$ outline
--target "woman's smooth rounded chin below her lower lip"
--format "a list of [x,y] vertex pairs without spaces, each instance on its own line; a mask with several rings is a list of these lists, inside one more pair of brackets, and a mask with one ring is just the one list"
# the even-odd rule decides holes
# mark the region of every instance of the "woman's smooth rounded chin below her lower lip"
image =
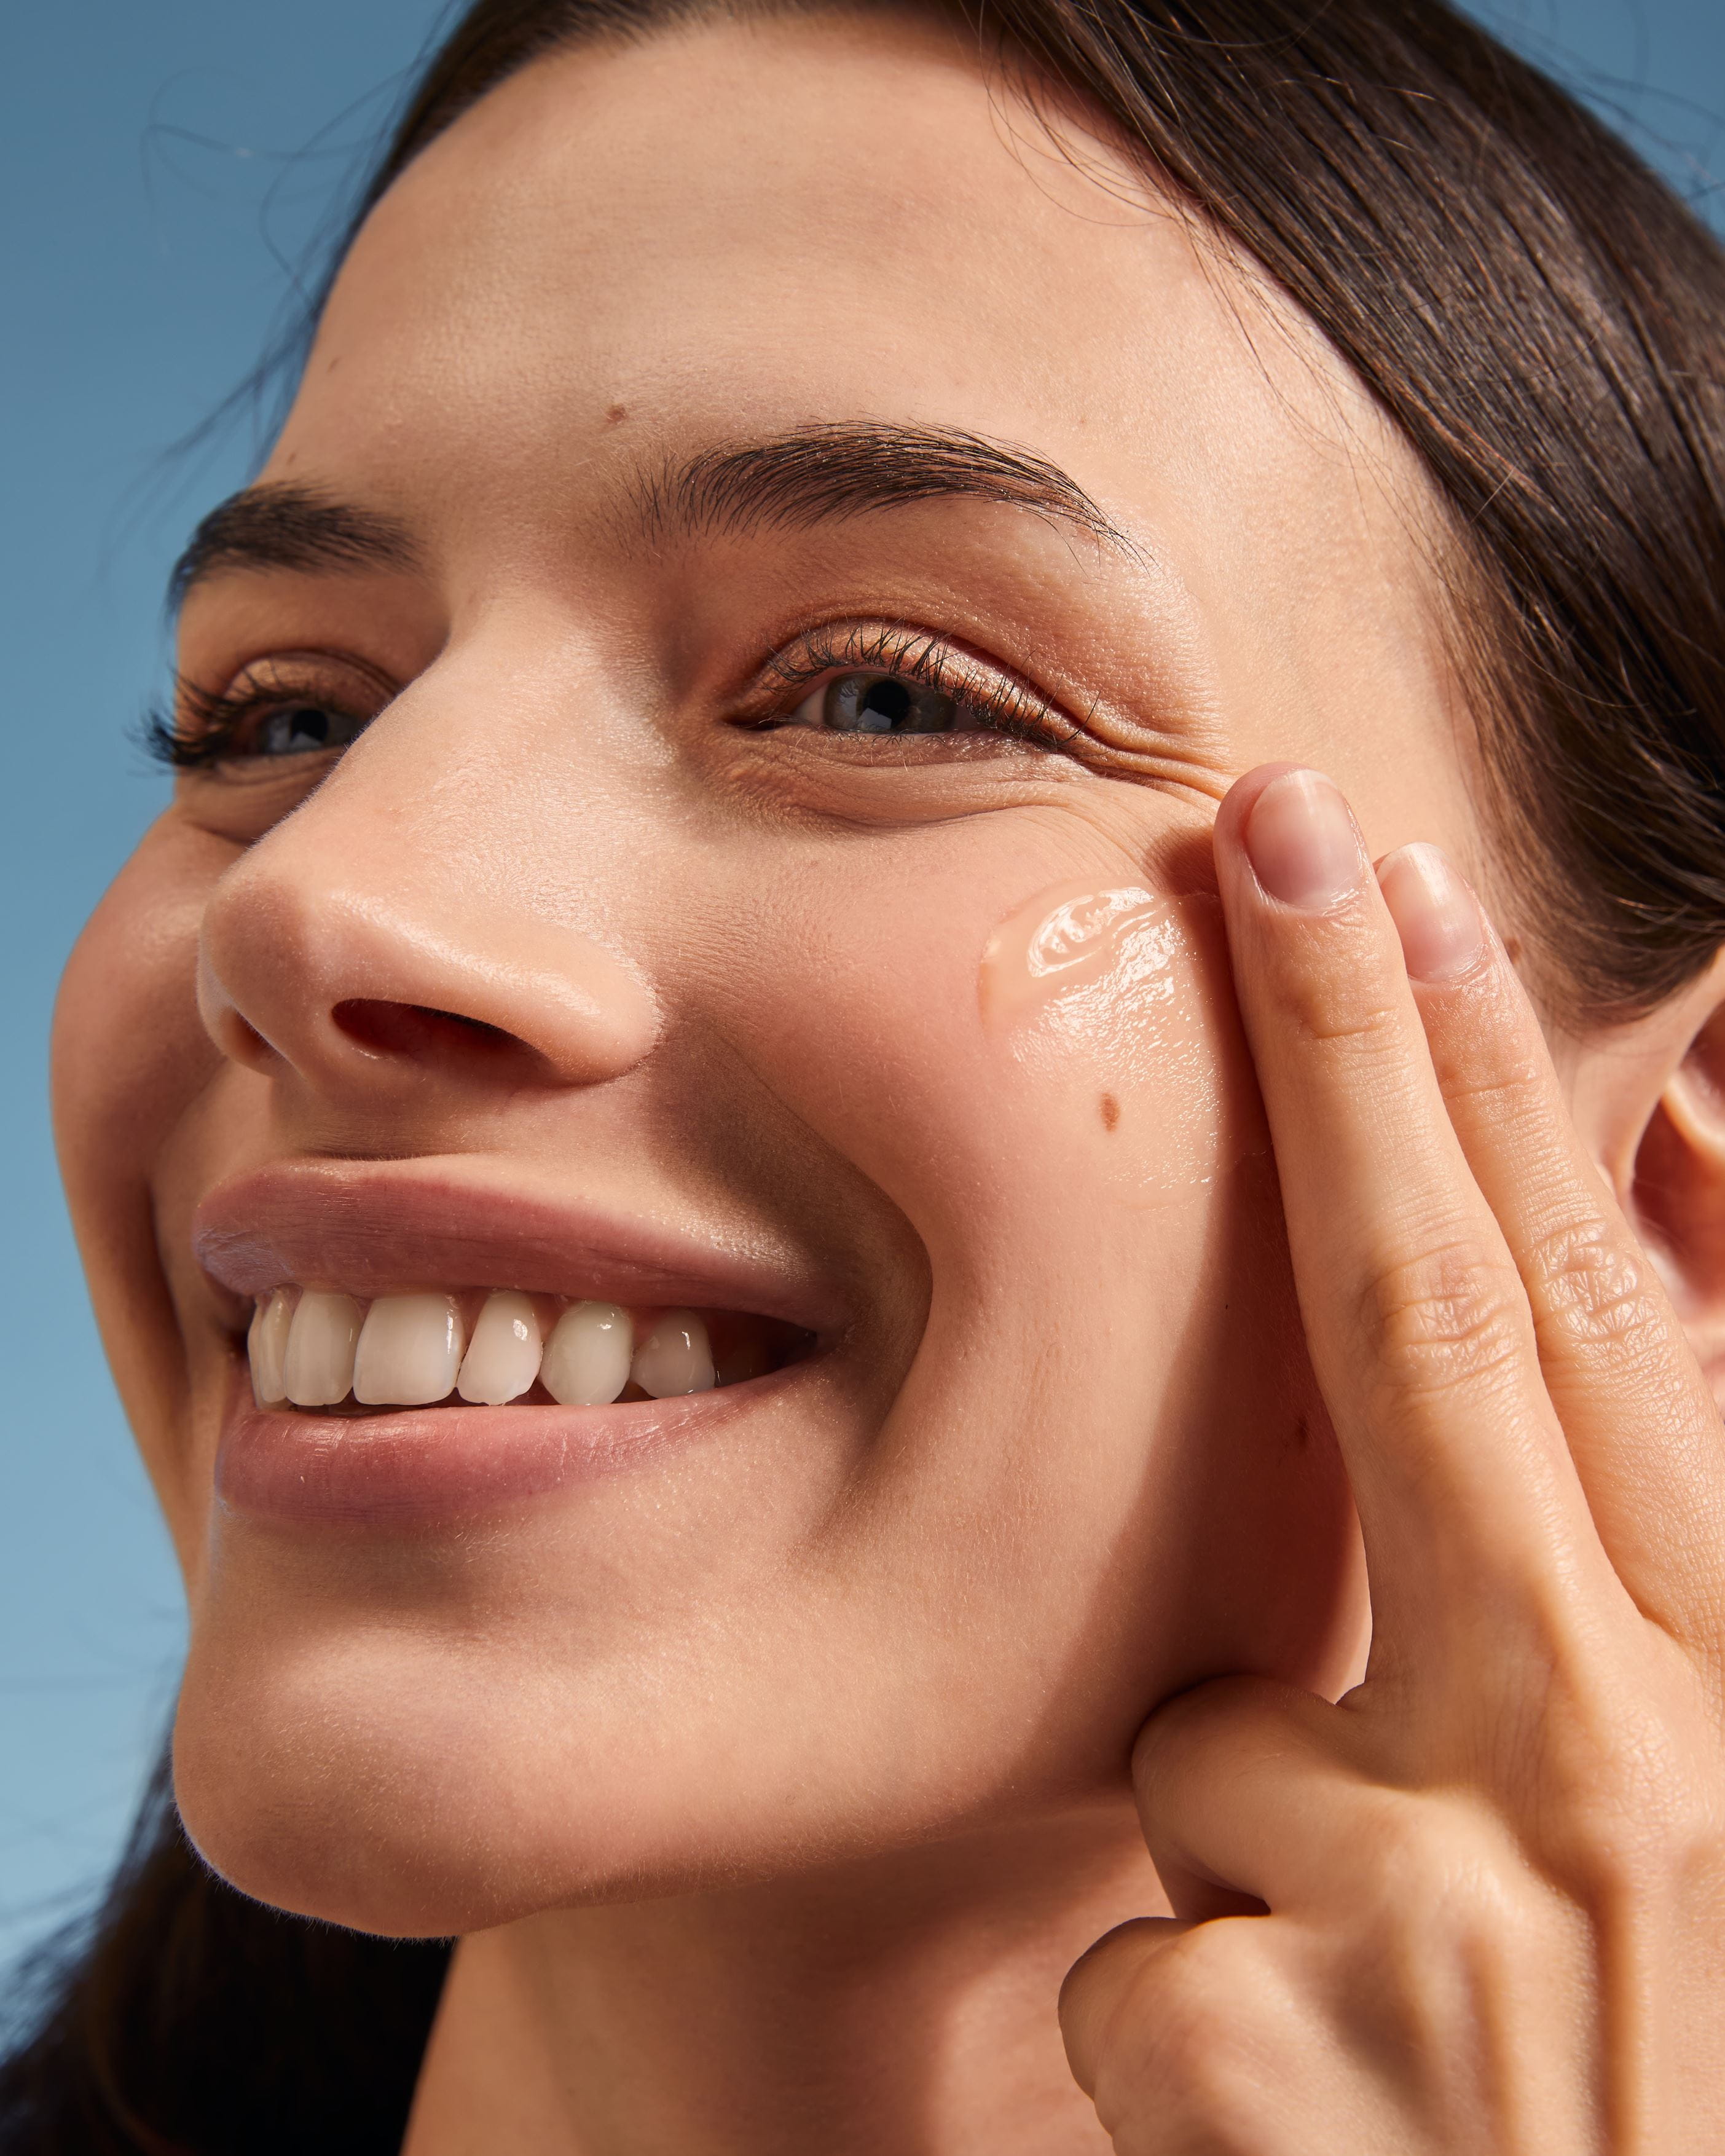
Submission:
[[806,1744],[785,1751],[759,1692],[753,1714],[748,1697],[714,1708],[722,1680],[703,1680],[705,1697],[619,1714],[606,1690],[567,1671],[541,1688],[533,1658],[498,1667],[442,1628],[265,1651],[194,1630],[175,1725],[181,1820],[252,1899],[392,1938],[735,1887],[949,1824],[893,1807],[856,1761],[837,1761],[826,1807],[819,1792],[806,1802]]

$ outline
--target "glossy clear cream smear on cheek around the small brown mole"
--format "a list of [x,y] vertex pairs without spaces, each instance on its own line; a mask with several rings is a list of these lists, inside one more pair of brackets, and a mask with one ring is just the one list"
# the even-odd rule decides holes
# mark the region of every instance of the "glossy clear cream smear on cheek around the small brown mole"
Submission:
[[988,940],[977,994],[1126,1203],[1192,1197],[1268,1151],[1220,901],[1054,884]]

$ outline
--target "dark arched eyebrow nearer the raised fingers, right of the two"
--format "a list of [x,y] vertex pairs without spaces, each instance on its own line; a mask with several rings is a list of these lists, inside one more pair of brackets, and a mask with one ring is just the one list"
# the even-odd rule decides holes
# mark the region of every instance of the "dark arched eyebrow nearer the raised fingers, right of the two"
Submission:
[[634,489],[649,537],[802,530],[951,498],[1029,509],[1132,558],[1138,552],[1059,464],[957,427],[796,427],[765,442],[705,448]]

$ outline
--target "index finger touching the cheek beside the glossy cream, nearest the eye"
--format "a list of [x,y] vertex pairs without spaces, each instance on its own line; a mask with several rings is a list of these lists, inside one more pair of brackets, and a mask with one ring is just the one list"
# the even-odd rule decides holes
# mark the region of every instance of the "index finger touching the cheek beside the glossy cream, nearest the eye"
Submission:
[[1374,1647],[1475,1654],[1507,1602],[1609,1572],[1505,1238],[1438,1091],[1395,925],[1337,789],[1242,778],[1216,873],[1307,1345],[1371,1576]]

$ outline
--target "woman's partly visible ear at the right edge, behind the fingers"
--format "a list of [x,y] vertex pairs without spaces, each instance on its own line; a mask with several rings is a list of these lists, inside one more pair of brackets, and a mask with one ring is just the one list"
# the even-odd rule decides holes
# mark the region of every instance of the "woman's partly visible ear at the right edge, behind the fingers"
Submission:
[[1570,1102],[1725,1406],[1725,951],[1650,1018],[1578,1044]]

